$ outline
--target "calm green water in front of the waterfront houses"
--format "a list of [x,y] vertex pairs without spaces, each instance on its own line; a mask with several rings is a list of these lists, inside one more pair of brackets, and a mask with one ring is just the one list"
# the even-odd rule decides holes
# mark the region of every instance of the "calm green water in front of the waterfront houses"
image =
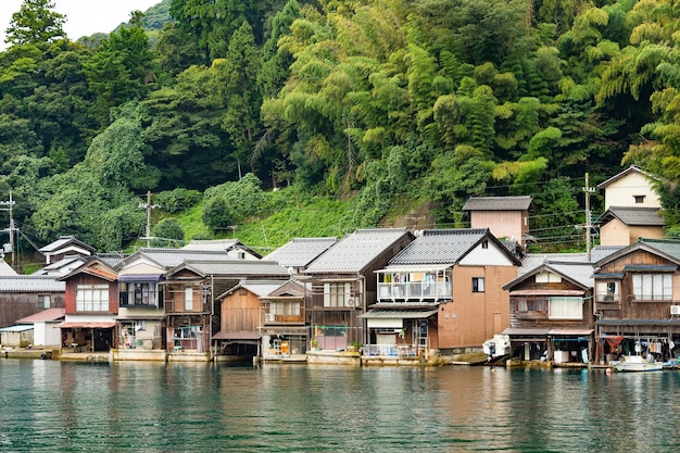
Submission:
[[680,373],[0,360],[0,451],[665,452]]

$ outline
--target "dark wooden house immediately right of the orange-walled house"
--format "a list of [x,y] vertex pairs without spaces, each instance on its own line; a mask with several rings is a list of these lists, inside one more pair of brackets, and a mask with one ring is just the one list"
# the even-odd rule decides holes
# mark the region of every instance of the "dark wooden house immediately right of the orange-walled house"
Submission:
[[590,363],[594,355],[592,264],[543,261],[503,286],[509,292],[511,356]]

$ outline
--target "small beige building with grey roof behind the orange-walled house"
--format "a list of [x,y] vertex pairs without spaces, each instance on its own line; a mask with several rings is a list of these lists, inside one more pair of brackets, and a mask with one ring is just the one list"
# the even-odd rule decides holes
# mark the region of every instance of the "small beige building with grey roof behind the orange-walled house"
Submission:
[[531,197],[470,197],[463,211],[469,212],[470,228],[489,228],[496,238],[527,246]]

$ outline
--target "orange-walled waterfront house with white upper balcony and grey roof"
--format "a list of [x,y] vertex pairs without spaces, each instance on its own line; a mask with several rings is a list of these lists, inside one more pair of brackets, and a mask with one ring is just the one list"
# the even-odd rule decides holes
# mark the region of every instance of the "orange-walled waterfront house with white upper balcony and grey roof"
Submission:
[[368,354],[478,350],[509,323],[503,282],[519,260],[488,228],[423,230],[377,270]]

